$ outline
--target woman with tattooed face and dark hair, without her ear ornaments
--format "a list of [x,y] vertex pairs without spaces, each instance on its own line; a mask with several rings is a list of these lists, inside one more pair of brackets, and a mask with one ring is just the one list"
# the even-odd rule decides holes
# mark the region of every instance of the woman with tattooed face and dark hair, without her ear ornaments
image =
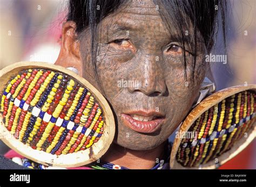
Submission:
[[213,81],[205,56],[224,12],[218,0],[70,0],[55,64],[76,68],[95,86],[116,122],[110,149],[86,167],[169,168],[168,138],[204,78]]

